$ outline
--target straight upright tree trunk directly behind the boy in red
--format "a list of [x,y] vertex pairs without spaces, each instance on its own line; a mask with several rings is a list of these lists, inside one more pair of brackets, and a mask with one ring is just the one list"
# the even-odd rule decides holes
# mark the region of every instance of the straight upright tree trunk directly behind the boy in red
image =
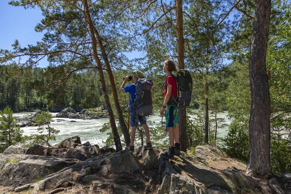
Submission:
[[[178,69],[184,69],[183,0],[177,0],[177,52]],[[186,109],[178,109],[181,151],[187,150]]]

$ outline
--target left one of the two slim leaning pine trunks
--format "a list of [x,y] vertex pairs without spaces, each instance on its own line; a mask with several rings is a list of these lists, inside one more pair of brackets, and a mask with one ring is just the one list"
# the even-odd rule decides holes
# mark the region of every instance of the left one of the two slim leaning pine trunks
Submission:
[[122,150],[122,146],[121,146],[120,137],[119,137],[119,134],[118,134],[118,131],[116,128],[114,114],[113,114],[111,104],[109,101],[109,97],[107,94],[106,83],[105,83],[104,74],[103,74],[103,70],[102,70],[102,64],[101,64],[101,61],[97,55],[97,41],[96,41],[96,37],[95,37],[95,33],[94,33],[94,25],[93,25],[93,22],[92,22],[92,19],[90,16],[89,6],[88,6],[87,0],[83,0],[83,3],[84,3],[85,16],[86,16],[87,22],[89,24],[90,32],[91,32],[93,55],[94,55],[94,59],[97,63],[97,70],[98,70],[99,79],[101,82],[102,94],[103,94],[105,104],[107,107],[107,111],[109,114],[109,120],[110,120],[110,125],[111,125],[111,129],[112,129],[112,133],[113,133],[113,139],[114,139],[114,144],[116,147],[116,152],[118,152],[118,151]]

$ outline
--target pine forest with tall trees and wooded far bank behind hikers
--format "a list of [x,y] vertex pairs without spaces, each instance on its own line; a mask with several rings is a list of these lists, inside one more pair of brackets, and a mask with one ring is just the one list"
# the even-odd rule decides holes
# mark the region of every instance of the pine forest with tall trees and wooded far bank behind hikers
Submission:
[[[22,47],[15,37],[13,49],[0,48],[0,110],[9,106],[13,112],[58,112],[103,106],[118,151],[120,136],[129,144],[128,95],[116,88],[130,71],[140,69],[154,83],[153,105],[159,113],[163,62],[172,59],[193,78],[191,105],[179,110],[183,151],[217,145],[247,162],[247,173],[254,176],[291,172],[290,0],[9,4],[40,9],[44,18],[35,31],[44,35],[36,45]],[[140,56],[129,59],[134,51]],[[38,67],[45,57],[49,66]],[[232,122],[227,136],[218,139],[216,115],[224,111]],[[190,113],[198,119],[191,121]],[[162,130],[156,128],[154,138],[166,136]],[[286,131],[289,136],[283,136]]]

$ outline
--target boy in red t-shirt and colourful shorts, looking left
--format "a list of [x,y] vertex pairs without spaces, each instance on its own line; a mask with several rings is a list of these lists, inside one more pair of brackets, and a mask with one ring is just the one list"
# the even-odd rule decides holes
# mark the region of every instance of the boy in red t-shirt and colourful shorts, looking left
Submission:
[[[172,71],[177,71],[173,60],[166,60],[163,65],[163,71],[167,78],[164,84],[164,100],[161,109],[161,115],[166,113],[166,128],[169,132],[169,150],[161,154],[164,159],[174,159],[174,155],[180,155],[180,133],[178,121],[178,109],[173,97],[177,97],[177,81]],[[175,141],[175,144],[174,144]]]

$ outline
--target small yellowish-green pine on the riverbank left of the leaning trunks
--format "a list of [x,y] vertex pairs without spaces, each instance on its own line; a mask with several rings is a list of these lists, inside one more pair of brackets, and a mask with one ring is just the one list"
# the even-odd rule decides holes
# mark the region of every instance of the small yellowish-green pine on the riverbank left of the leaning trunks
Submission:
[[[32,144],[50,146],[49,141],[55,140],[56,135],[60,132],[60,130],[49,127],[50,121],[51,121],[50,113],[41,112],[35,116],[34,122],[36,122],[39,125],[39,128],[37,129],[38,134],[32,134],[31,136],[26,137],[28,143],[27,146],[31,146]],[[43,134],[45,129],[47,130],[48,133]]]

